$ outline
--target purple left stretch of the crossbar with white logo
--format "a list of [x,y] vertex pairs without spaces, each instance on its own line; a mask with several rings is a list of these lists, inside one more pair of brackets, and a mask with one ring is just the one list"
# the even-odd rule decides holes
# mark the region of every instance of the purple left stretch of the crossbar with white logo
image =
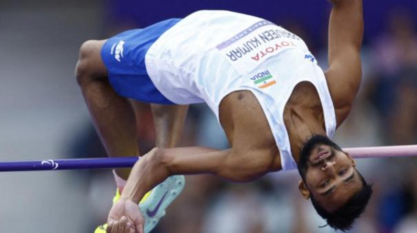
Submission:
[[105,157],[92,159],[48,159],[38,161],[0,162],[0,172],[23,170],[70,170],[92,168],[130,168],[139,157]]

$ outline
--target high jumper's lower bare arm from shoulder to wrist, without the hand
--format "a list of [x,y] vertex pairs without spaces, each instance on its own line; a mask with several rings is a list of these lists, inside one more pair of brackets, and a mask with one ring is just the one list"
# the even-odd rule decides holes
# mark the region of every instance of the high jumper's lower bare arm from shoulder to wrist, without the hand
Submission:
[[274,170],[275,162],[276,157],[267,150],[154,148],[132,168],[121,199],[139,203],[146,192],[171,175],[209,173],[230,181],[252,181]]

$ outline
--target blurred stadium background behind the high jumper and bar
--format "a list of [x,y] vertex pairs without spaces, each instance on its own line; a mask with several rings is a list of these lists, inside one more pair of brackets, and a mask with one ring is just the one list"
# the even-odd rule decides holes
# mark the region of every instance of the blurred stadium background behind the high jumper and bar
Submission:
[[[145,27],[195,10],[261,16],[301,36],[327,64],[325,0],[0,0],[1,160],[103,157],[74,78],[85,40]],[[336,133],[341,146],[417,144],[417,2],[365,1],[363,82]],[[141,151],[154,144],[152,116],[141,120]],[[225,148],[204,104],[190,108],[181,146]],[[417,232],[417,157],[362,159],[374,183],[367,212],[349,232]],[[250,184],[187,177],[183,194],[154,233],[332,232],[298,195],[298,174]],[[115,191],[110,170],[1,173],[0,232],[88,233],[104,223]]]

